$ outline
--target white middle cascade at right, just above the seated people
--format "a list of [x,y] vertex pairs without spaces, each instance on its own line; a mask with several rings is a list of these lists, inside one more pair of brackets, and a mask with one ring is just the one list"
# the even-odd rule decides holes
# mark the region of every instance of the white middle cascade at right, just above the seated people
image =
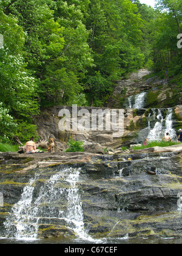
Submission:
[[168,108],[166,118],[164,119],[161,109],[158,109],[157,122],[155,123],[153,129],[150,128],[150,122],[148,124],[150,132],[147,136],[147,139],[149,141],[160,141],[166,135],[167,132],[169,132],[169,136],[170,138],[172,138],[172,140],[177,139],[175,129],[173,129],[172,127],[172,113],[172,108]]

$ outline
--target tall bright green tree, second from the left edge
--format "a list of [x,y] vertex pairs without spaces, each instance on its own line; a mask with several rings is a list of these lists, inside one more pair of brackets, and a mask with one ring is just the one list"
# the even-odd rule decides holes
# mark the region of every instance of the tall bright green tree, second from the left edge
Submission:
[[[56,103],[61,97],[56,77],[52,78],[55,65],[63,62],[61,57],[64,47],[62,27],[54,19],[54,1],[17,0],[8,9],[18,17],[19,24],[25,31],[25,61],[27,68],[38,79],[38,95],[41,105],[46,101]],[[55,63],[56,62],[56,63]],[[51,68],[52,67],[52,68]],[[60,73],[60,72],[59,72]]]

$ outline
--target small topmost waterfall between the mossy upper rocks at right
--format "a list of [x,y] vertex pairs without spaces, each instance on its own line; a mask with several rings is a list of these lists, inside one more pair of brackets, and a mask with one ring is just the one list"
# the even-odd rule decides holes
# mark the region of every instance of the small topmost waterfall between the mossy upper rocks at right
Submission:
[[144,108],[144,101],[146,99],[146,92],[131,95],[127,98],[126,108]]

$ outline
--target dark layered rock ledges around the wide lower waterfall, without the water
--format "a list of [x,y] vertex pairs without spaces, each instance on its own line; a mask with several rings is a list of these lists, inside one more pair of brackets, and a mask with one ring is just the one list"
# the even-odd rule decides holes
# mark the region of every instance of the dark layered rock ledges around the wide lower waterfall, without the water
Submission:
[[[10,152],[1,154],[4,158],[0,163],[0,191],[4,195],[4,207],[0,207],[0,235],[5,235],[3,223],[8,212],[35,174],[39,176],[34,183],[34,201],[53,174],[65,168],[79,168],[76,188],[84,227],[91,237],[181,237],[177,201],[178,193],[182,192],[182,152],[178,145],[166,151],[153,148],[152,152],[113,155],[69,152],[37,154],[31,158],[21,154],[10,157]],[[59,186],[62,185],[58,180],[54,188]],[[42,207],[46,209],[44,204],[42,198]],[[66,204],[66,199],[61,202],[64,208]],[[57,208],[59,205],[55,214]],[[76,236],[64,219],[56,215],[50,219],[39,217],[39,238]]]

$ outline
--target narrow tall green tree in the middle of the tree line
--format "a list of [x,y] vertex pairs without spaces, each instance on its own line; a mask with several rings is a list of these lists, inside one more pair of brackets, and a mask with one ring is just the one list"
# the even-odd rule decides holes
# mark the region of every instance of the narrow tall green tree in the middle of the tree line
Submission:
[[[61,82],[62,102],[72,104],[83,94],[83,80],[87,69],[92,67],[93,59],[87,43],[89,32],[84,25],[86,6],[89,1],[56,1],[55,12],[58,23],[64,27],[64,48],[61,53],[63,71]],[[85,101],[84,101],[85,102]],[[84,103],[83,102],[83,103]]]

